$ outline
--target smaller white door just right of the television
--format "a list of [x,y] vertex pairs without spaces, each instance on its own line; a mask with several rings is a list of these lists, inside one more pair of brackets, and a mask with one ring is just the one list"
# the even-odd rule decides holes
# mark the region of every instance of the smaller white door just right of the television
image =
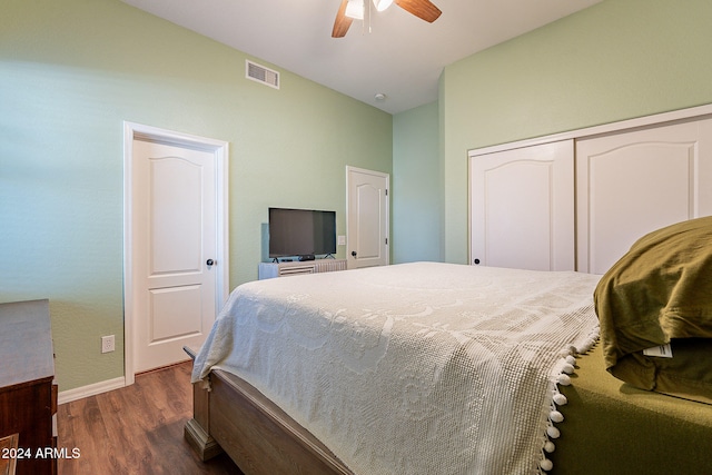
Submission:
[[387,266],[388,174],[346,167],[346,263],[349,269]]

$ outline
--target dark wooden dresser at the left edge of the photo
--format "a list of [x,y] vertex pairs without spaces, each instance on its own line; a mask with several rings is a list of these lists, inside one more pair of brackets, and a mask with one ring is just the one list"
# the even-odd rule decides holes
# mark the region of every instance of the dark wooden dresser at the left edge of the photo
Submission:
[[57,473],[53,379],[49,300],[0,304],[0,473]]

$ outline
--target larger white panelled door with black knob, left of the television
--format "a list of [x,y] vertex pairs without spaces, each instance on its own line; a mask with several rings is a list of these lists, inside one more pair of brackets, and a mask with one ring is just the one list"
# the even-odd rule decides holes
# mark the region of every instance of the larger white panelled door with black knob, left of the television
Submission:
[[138,135],[130,150],[127,376],[184,360],[184,345],[202,344],[227,267],[222,146]]

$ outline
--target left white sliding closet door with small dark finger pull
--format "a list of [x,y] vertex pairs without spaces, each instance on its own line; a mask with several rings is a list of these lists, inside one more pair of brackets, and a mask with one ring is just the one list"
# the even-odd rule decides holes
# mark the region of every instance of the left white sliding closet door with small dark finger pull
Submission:
[[471,264],[574,269],[573,140],[471,157]]

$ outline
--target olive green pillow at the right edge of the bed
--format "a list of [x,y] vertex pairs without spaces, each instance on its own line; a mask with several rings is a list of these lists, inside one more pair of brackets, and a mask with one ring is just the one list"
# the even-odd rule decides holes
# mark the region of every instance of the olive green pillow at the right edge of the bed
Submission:
[[[601,278],[594,301],[613,376],[712,403],[712,217],[639,239]],[[643,354],[668,344],[672,358]]]

